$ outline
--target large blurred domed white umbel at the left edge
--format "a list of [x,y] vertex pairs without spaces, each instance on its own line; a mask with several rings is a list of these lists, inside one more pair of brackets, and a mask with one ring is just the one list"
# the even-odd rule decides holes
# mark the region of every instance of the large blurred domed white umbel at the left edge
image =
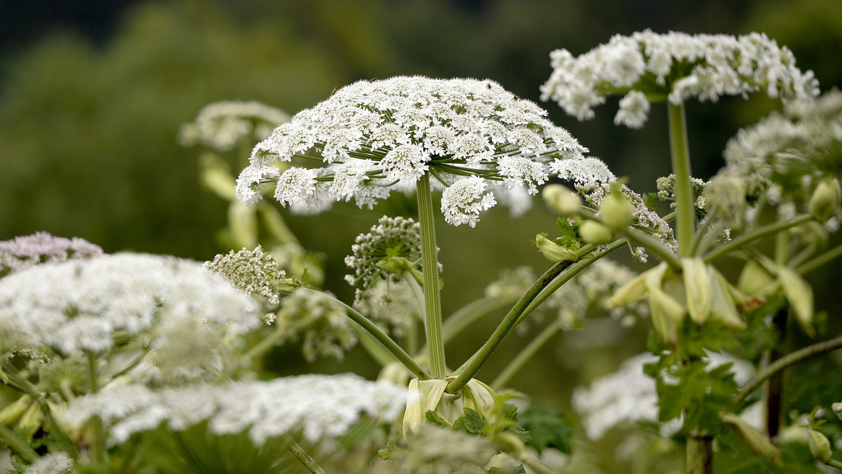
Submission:
[[[66,355],[103,354],[120,333],[141,338],[156,365],[193,371],[216,363],[222,338],[261,321],[257,305],[221,275],[174,257],[119,253],[0,280],[0,341],[7,350],[44,345]],[[166,357],[189,347],[196,350],[187,358]]]

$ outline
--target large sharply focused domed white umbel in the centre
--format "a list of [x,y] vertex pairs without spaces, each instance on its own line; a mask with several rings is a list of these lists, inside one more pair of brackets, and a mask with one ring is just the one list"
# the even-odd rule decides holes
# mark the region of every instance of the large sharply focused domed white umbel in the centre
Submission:
[[[283,205],[322,210],[352,198],[373,206],[392,189],[412,189],[429,174],[453,187],[442,200],[446,221],[475,223],[507,194],[536,194],[552,163],[582,159],[587,149],[546,111],[498,83],[475,79],[392,77],[338,89],[254,147],[237,178],[237,198],[261,199],[275,183]],[[274,162],[310,158],[321,167],[280,172]]]

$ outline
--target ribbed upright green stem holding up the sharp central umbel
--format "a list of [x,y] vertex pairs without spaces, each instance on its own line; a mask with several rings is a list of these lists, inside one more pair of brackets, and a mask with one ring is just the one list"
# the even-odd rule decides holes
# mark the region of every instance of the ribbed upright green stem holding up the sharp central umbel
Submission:
[[433,194],[429,188],[429,174],[424,173],[416,184],[418,194],[418,224],[421,226],[421,270],[424,272],[424,333],[430,373],[445,378],[445,340],[441,333],[441,296],[439,290],[439,248],[435,245]]

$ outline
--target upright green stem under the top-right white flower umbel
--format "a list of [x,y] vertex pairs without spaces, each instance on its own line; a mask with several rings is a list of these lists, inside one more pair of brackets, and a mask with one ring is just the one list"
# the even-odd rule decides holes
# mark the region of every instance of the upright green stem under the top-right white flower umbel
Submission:
[[693,184],[690,181],[687,120],[684,103],[672,104],[668,101],[667,104],[669,107],[669,152],[675,175],[675,210],[678,212],[676,235],[679,242],[679,255],[688,257],[695,228],[695,200],[693,199]]

